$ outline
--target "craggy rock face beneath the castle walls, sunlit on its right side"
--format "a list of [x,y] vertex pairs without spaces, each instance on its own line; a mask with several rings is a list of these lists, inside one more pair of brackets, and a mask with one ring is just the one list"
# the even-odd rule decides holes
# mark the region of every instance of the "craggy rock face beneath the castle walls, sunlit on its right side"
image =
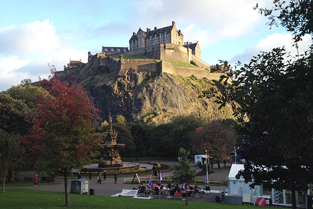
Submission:
[[233,118],[230,105],[218,109],[213,99],[198,98],[202,90],[212,86],[205,78],[135,72],[132,68],[125,77],[109,72],[105,66],[87,63],[82,68],[60,73],[60,79],[81,83],[94,98],[103,120],[108,120],[109,112],[113,118],[123,115],[128,121],[143,119],[156,124],[166,123],[180,114]]

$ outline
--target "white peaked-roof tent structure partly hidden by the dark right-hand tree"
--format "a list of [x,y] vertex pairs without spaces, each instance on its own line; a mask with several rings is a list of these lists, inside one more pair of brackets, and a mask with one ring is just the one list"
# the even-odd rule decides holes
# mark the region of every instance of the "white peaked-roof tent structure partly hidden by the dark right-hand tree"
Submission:
[[244,203],[255,203],[256,199],[263,196],[263,186],[257,185],[254,189],[249,187],[252,182],[245,183],[243,178],[236,179],[236,175],[240,170],[244,169],[242,164],[232,164],[228,174],[228,195],[240,196]]

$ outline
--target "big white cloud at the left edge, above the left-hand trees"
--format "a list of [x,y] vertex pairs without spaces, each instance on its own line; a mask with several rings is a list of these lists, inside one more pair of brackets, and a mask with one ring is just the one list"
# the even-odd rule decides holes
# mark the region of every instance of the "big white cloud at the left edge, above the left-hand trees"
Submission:
[[69,46],[49,20],[0,28],[0,91],[25,78],[47,78],[47,63],[60,71],[70,58],[87,62],[87,51]]

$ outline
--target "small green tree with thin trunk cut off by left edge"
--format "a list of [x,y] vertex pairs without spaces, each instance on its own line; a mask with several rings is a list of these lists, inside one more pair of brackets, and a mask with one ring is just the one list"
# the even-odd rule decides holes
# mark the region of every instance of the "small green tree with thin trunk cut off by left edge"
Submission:
[[0,178],[2,180],[2,192],[5,191],[6,175],[10,167],[17,164],[20,159],[21,148],[15,135],[9,135],[0,129]]

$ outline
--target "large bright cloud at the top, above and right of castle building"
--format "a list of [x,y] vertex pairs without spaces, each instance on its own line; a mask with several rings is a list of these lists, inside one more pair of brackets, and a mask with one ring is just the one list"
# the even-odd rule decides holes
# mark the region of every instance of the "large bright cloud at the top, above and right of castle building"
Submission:
[[[258,1],[261,7],[270,2]],[[141,0],[130,10],[141,9],[134,15],[142,28],[163,27],[171,24],[168,20],[174,20],[185,41],[199,41],[205,46],[217,40],[241,37],[264,25],[265,18],[253,9],[255,5],[256,1],[252,0]]]

